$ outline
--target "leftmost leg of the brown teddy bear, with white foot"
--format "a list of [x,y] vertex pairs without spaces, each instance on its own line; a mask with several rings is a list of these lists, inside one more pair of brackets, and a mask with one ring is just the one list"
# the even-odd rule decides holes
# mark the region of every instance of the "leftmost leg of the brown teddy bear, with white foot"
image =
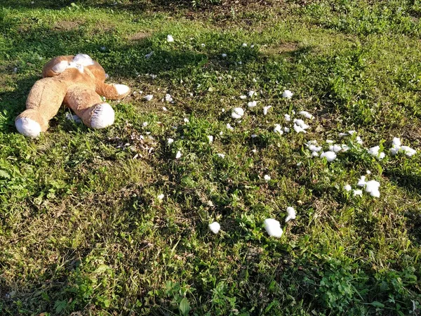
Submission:
[[24,136],[36,138],[48,129],[48,121],[57,114],[65,98],[66,88],[53,78],[36,81],[27,98],[27,110],[15,119],[15,126]]

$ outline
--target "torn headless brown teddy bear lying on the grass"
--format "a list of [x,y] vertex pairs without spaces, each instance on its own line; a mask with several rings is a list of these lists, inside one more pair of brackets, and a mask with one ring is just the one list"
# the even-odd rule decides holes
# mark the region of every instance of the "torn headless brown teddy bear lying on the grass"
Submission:
[[18,132],[31,138],[48,129],[48,121],[62,103],[86,126],[104,129],[114,123],[114,110],[100,96],[119,100],[130,92],[124,84],[105,84],[105,70],[86,54],[53,58],[44,66],[42,77],[29,91],[26,110],[15,119]]

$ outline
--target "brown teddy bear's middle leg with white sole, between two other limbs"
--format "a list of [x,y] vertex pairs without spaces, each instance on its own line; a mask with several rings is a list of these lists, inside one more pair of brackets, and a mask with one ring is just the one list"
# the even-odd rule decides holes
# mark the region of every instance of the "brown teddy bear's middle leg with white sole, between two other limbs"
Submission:
[[65,103],[88,127],[105,129],[114,123],[114,110],[111,105],[103,102],[93,89],[72,87],[67,91]]

